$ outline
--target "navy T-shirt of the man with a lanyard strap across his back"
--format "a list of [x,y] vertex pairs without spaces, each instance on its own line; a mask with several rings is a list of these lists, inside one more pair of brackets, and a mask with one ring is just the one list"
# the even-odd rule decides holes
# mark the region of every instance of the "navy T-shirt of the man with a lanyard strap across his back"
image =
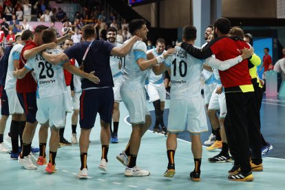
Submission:
[[[83,56],[87,50],[89,41],[82,43],[76,43],[72,47],[64,51],[69,59],[76,59],[81,66]],[[82,89],[89,89],[94,87],[113,87],[113,77],[110,67],[110,54],[115,46],[108,41],[97,41],[92,43],[92,46],[87,53],[85,61],[83,63],[84,72],[95,71],[95,75],[100,79],[99,84],[92,83],[88,79],[84,78],[81,81]]]

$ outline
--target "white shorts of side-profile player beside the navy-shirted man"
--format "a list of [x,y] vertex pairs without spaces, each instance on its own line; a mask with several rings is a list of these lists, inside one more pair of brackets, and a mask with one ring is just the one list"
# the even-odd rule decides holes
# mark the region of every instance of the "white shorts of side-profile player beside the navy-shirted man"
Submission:
[[129,119],[131,124],[144,124],[145,116],[150,115],[145,105],[145,88],[135,89],[131,91],[120,91],[127,111],[129,111]]

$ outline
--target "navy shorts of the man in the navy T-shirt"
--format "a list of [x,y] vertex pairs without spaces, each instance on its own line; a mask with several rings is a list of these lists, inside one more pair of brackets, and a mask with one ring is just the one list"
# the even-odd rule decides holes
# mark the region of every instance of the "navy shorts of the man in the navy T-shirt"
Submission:
[[80,97],[80,126],[83,129],[94,127],[97,112],[105,123],[112,122],[114,92],[112,87],[83,90]]

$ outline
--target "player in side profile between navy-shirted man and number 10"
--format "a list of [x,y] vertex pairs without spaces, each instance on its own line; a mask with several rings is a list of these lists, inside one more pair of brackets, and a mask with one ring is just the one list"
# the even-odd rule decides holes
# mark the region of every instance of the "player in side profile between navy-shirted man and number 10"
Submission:
[[[147,39],[147,32],[149,32],[142,19],[131,21],[129,31],[132,35],[140,36],[143,41]],[[143,41],[134,43],[122,64],[123,84],[120,87],[120,96],[127,107],[132,126],[129,143],[125,151],[117,156],[117,159],[126,165],[125,176],[149,176],[149,171],[136,166],[140,140],[151,125],[151,116],[145,105],[145,78],[150,67],[161,63],[165,57],[169,56],[165,53],[156,59],[147,60],[147,45]]]

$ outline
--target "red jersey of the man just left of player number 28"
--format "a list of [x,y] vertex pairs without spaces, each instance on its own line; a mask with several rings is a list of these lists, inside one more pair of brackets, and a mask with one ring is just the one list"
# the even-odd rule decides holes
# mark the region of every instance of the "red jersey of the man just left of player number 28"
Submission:
[[[23,50],[20,55],[20,60],[19,60],[19,67],[20,70],[25,66],[25,63],[27,63],[27,60],[23,57],[23,52],[25,50],[31,50],[34,47],[37,47],[36,43],[33,41],[27,41],[25,43],[25,46],[23,47]],[[16,83],[16,90],[17,93],[27,93],[27,92],[36,92],[36,81],[34,81],[34,77],[32,76],[31,72],[28,72],[24,78],[22,79],[17,79]]]

